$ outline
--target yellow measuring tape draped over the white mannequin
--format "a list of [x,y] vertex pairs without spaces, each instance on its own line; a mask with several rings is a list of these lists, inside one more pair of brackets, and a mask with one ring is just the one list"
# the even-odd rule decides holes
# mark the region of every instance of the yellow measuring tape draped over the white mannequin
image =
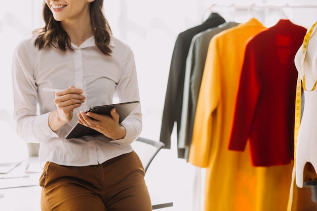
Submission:
[[[302,71],[304,71],[304,60],[307,53],[308,43],[310,36],[312,34],[313,28],[317,25],[317,22],[314,23],[309,31],[304,36],[303,40],[303,49],[302,49],[302,56],[301,56],[301,68]],[[310,91],[313,91],[316,88],[317,80],[315,81],[315,84],[313,88]],[[302,97],[302,88],[306,90],[306,81],[305,81],[305,74],[303,74],[303,85],[302,80],[300,78],[300,75],[297,76],[297,85],[296,85],[296,97],[295,97],[295,124],[294,124],[294,165],[293,165],[293,172],[292,172],[292,183],[290,188],[290,195],[289,195],[289,201],[287,204],[287,211],[292,210],[293,205],[293,199],[294,199],[294,187],[296,186],[295,183],[295,158],[296,158],[296,145],[297,145],[297,137],[299,132],[299,126],[300,126],[300,118],[301,118],[301,97]]]

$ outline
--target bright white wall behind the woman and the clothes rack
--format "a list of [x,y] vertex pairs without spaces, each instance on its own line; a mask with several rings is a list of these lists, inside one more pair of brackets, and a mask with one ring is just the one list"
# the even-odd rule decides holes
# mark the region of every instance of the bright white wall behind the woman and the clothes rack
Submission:
[[[261,3],[283,6],[287,3],[315,4],[315,0],[244,0],[239,4],[224,0],[105,1],[104,10],[114,35],[126,40],[135,53],[144,113],[144,137],[159,138],[170,60],[178,33],[202,23],[211,11],[220,13],[227,21],[236,22],[247,21],[254,15],[268,27],[283,18],[279,9],[250,7],[234,10],[234,6]],[[215,6],[210,11],[212,5]],[[286,8],[284,12],[294,23],[310,27],[316,20],[316,10]],[[0,109],[12,112],[11,54],[18,40],[42,26],[41,12],[42,1],[38,0],[21,1],[18,6],[16,1],[5,1],[0,8],[0,88],[5,90]]]

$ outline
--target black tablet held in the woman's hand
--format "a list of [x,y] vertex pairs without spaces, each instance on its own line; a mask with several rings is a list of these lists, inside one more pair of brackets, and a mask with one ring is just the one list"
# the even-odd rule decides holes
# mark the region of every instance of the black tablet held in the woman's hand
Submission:
[[[110,110],[115,108],[116,112],[120,115],[119,123],[121,123],[139,104],[139,101],[132,101],[111,105],[94,106],[89,108],[86,113],[94,112],[98,114],[110,115]],[[98,134],[100,134],[98,131],[88,128],[83,124],[77,123],[68,132],[68,134],[65,136],[65,139],[79,138],[82,136],[94,136]]]

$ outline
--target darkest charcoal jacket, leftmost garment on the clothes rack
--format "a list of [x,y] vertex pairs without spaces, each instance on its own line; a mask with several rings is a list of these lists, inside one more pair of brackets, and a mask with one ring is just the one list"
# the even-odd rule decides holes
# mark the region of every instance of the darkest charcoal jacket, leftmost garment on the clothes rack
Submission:
[[[209,28],[216,27],[224,22],[224,18],[222,18],[218,13],[212,13],[201,25],[189,28],[177,36],[171,60],[162,117],[160,141],[165,144],[164,148],[171,148],[171,134],[174,128],[174,122],[177,122],[177,134],[179,133],[183,102],[185,65],[191,40],[195,34]],[[179,149],[178,157],[184,157],[184,149]]]

